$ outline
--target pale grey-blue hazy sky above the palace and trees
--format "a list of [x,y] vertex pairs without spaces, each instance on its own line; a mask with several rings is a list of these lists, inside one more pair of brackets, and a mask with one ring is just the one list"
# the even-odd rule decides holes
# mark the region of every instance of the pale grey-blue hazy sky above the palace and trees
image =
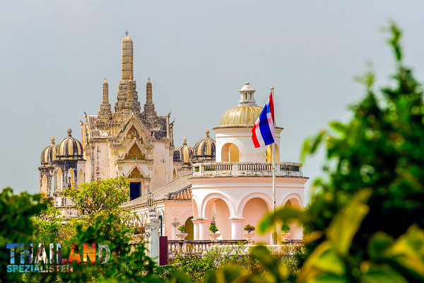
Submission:
[[[4,1],[0,10],[0,187],[39,192],[40,154],[96,115],[102,81],[116,101],[125,30],[134,40],[134,80],[143,105],[148,76],[158,115],[172,111],[175,145],[189,145],[237,106],[245,81],[263,106],[271,86],[281,161],[331,120],[347,121],[363,97],[353,80],[367,62],[378,86],[394,60],[382,33],[402,30],[406,64],[424,76],[423,1]],[[211,132],[211,136],[214,134]],[[304,175],[322,174],[323,151]],[[311,181],[307,183],[310,197]]]

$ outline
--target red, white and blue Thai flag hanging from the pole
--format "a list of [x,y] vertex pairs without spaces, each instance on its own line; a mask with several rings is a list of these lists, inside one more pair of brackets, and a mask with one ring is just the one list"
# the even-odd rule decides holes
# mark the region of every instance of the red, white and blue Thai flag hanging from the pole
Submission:
[[273,100],[272,93],[269,95],[268,101],[264,106],[257,122],[254,123],[252,128],[252,140],[254,147],[267,146],[273,144],[273,130],[274,130],[274,115],[273,115]]

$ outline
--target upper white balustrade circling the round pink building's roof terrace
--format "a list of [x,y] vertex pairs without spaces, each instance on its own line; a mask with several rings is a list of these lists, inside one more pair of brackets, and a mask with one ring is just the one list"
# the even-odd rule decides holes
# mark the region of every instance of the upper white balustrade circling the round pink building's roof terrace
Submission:
[[[272,176],[271,162],[214,162],[193,165],[194,177],[211,176]],[[303,177],[302,164],[293,162],[276,163],[276,176]]]

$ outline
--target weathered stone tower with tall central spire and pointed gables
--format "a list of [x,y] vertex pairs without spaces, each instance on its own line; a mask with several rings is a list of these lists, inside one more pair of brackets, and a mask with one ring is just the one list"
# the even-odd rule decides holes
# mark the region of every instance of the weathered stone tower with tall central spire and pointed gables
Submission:
[[134,79],[134,42],[128,31],[122,40],[121,79],[114,111],[109,83],[102,84],[98,115],[81,122],[86,160],[86,182],[124,176],[130,180],[131,199],[146,195],[175,178],[173,122],[157,115],[152,82],[146,83],[143,111]]

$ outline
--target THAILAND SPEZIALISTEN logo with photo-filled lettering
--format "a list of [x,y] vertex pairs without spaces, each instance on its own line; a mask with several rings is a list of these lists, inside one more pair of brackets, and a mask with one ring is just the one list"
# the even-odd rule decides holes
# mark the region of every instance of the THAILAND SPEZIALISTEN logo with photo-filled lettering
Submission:
[[50,243],[49,246],[39,243],[36,253],[33,243],[6,243],[6,249],[10,250],[7,272],[73,272],[74,261],[78,264],[96,263],[96,252],[97,263],[105,264],[110,259],[110,248],[105,243],[90,246],[83,243],[82,258],[76,243],[72,244],[68,258],[62,257],[61,243]]

